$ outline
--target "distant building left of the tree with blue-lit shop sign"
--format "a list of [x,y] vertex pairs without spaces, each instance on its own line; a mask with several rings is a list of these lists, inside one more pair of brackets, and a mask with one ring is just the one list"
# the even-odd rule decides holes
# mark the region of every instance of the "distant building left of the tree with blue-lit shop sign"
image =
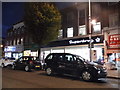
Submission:
[[38,47],[33,43],[24,22],[18,22],[7,31],[5,57],[38,56]]

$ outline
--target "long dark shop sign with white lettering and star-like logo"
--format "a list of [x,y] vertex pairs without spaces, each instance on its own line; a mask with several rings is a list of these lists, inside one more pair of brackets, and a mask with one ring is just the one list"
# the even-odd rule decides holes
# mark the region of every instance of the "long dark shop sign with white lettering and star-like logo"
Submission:
[[[103,40],[104,40],[103,35],[101,35],[101,36],[92,36],[91,42],[93,44],[97,44],[97,43],[103,43]],[[84,45],[84,44],[89,44],[89,42],[90,42],[89,37],[73,38],[73,39],[67,39],[67,40],[53,41],[53,42],[50,42],[45,47]]]

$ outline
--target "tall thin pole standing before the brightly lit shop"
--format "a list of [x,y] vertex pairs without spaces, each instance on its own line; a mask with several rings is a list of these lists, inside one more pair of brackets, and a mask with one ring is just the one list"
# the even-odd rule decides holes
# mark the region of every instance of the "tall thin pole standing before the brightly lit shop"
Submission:
[[89,40],[90,40],[90,61],[92,61],[92,40],[91,40],[92,36],[91,36],[91,5],[90,5],[90,0],[89,0]]

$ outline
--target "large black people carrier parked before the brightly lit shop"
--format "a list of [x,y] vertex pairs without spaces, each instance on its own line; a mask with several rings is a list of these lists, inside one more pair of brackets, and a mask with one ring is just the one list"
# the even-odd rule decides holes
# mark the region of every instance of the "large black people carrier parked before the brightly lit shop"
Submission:
[[106,69],[95,65],[78,55],[69,53],[51,53],[45,58],[47,75],[68,74],[82,77],[85,81],[97,80],[107,76]]

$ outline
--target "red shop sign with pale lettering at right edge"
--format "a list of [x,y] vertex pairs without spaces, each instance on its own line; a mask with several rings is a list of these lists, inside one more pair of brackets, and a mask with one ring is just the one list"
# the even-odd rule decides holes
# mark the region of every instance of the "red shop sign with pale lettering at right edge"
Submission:
[[110,48],[120,48],[120,34],[110,35],[108,44]]

